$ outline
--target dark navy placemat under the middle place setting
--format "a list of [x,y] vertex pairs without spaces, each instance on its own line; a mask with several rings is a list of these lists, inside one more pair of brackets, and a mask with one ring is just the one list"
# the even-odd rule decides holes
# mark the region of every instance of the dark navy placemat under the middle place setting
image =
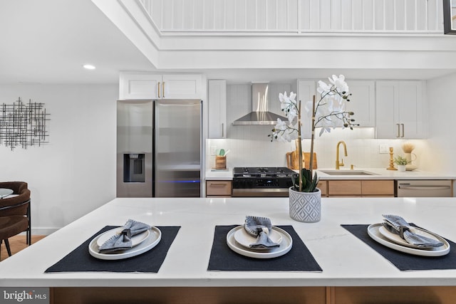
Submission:
[[293,226],[278,226],[293,239],[291,250],[276,258],[249,258],[232,251],[227,245],[228,232],[239,225],[215,226],[209,258],[209,271],[322,271],[314,256],[294,231]]

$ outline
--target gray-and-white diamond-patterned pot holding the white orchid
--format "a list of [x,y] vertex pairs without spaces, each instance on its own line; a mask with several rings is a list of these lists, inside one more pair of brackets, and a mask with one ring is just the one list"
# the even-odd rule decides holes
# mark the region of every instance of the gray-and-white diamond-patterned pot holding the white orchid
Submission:
[[297,192],[290,187],[290,217],[295,221],[315,223],[321,219],[321,191]]

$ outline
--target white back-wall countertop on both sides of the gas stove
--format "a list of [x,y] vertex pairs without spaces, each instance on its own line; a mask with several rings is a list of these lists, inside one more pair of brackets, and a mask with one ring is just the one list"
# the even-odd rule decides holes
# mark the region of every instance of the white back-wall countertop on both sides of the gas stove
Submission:
[[[316,173],[321,180],[343,180],[343,179],[456,179],[455,173],[445,173],[445,172],[430,172],[422,171],[420,169],[415,169],[413,171],[399,172],[394,170],[387,170],[386,168],[355,168],[351,169],[340,169],[337,171],[340,172],[356,172],[356,171],[366,171],[372,172],[373,175],[329,175],[325,174],[322,171],[336,171],[334,168],[318,168]],[[297,170],[295,170],[298,172]],[[233,169],[229,168],[228,171],[224,172],[214,172],[211,170],[206,171],[206,180],[232,180],[233,179]]]

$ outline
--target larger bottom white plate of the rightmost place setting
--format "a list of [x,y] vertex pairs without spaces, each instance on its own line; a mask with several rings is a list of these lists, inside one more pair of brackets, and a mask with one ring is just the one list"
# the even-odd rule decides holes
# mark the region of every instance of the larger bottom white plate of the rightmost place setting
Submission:
[[380,227],[383,227],[383,224],[372,224],[368,226],[368,235],[371,236],[374,241],[377,241],[378,243],[381,243],[388,248],[414,254],[415,256],[445,256],[445,254],[450,252],[450,244],[441,236],[437,236],[437,234],[435,234],[435,237],[437,237],[437,239],[443,243],[443,246],[423,250],[402,246],[398,243],[390,241],[389,239],[385,238],[385,236],[380,234]]

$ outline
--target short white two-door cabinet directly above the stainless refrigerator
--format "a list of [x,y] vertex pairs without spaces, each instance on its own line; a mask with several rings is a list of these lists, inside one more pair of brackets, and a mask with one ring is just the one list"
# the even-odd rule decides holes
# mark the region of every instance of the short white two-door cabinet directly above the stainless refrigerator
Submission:
[[199,74],[120,73],[119,99],[200,99]]

